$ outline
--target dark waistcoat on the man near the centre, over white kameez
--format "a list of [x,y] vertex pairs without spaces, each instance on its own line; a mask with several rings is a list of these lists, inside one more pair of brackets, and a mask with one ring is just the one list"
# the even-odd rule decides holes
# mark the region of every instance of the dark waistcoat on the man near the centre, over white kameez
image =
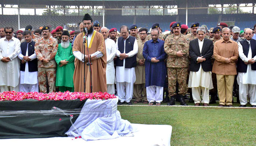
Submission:
[[[133,50],[133,45],[134,45],[135,39],[136,38],[132,37],[132,36],[129,36],[129,38],[126,39],[126,41],[125,41],[125,53],[129,53],[130,51]],[[123,37],[118,38],[117,43],[118,43],[118,50],[121,53],[124,53],[124,38]],[[133,55],[132,57],[127,57],[125,59],[125,68],[134,68],[134,67],[136,67],[136,65],[137,65],[136,56],[137,55]],[[124,60],[120,60],[117,57],[116,66],[123,66],[123,65],[124,65]]]

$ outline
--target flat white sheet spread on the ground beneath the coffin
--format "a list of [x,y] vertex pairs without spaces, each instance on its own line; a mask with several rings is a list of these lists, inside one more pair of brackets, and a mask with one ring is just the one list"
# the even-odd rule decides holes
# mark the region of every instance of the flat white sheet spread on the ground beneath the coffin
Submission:
[[[84,141],[82,138],[53,137],[31,139],[1,139],[1,145],[19,146],[170,146],[172,126],[131,124],[138,127],[133,137],[119,137],[116,139],[103,139],[97,141]],[[143,141],[143,139],[150,140]]]

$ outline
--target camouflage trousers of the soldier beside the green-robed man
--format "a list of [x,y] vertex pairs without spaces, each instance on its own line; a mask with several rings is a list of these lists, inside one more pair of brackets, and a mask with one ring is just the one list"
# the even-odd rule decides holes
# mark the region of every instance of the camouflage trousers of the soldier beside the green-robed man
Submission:
[[38,84],[40,92],[46,93],[46,76],[48,79],[49,93],[56,92],[56,68],[38,68]]

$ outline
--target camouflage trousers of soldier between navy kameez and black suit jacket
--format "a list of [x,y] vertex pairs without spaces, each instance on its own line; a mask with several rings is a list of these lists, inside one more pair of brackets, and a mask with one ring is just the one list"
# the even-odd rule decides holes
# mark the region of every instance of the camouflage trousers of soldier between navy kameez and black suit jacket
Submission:
[[187,74],[188,68],[167,68],[169,96],[176,95],[176,81],[178,81],[179,84],[178,93],[180,95],[187,93]]

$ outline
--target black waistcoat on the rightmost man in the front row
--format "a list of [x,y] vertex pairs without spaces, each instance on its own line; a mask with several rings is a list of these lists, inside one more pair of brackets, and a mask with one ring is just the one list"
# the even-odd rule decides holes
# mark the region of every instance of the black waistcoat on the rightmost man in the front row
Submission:
[[[249,43],[246,41],[246,39],[240,41],[242,47],[243,47],[243,53],[246,57],[248,57],[248,53],[249,53]],[[252,58],[256,55],[256,40],[251,39],[250,41],[251,44],[251,50],[252,50]],[[252,70],[256,70],[256,63],[251,64],[252,65]],[[240,57],[238,57],[238,61],[237,61],[237,71],[240,73],[246,73],[247,71],[247,66],[246,64],[244,64],[244,61],[242,61],[242,59]]]

